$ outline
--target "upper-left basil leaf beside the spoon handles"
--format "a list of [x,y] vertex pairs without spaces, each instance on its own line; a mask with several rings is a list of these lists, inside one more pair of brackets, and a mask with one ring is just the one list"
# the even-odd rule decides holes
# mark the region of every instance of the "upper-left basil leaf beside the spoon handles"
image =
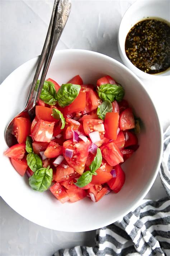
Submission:
[[[36,84],[36,91],[39,85],[39,81],[40,80],[38,80]],[[57,103],[57,93],[55,86],[52,82],[44,81],[44,85],[39,98],[48,105],[55,105]]]

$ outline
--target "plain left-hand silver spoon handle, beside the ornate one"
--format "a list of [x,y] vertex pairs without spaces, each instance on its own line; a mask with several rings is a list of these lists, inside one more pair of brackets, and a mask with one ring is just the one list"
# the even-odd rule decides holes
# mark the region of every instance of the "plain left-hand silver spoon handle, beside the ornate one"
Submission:
[[30,105],[32,103],[34,89],[36,87],[36,83],[37,83],[39,74],[41,72],[42,65],[43,65],[44,60],[46,58],[46,54],[47,54],[47,50],[48,50],[48,46],[49,46],[49,41],[50,41],[50,37],[51,37],[51,31],[52,31],[52,27],[53,27],[53,22],[54,22],[54,19],[55,19],[57,3],[58,3],[58,0],[55,0],[54,6],[53,6],[52,15],[51,15],[51,21],[50,21],[49,27],[48,27],[48,32],[47,32],[46,40],[44,42],[42,53],[39,56],[38,65],[37,65],[37,68],[36,68],[36,72],[35,72],[35,75],[34,75],[34,78],[33,78],[32,85],[31,85],[30,90],[29,90],[29,94],[28,94],[27,102],[26,102],[25,107],[24,107],[24,111],[28,111],[28,109],[29,109],[29,107],[30,107]]

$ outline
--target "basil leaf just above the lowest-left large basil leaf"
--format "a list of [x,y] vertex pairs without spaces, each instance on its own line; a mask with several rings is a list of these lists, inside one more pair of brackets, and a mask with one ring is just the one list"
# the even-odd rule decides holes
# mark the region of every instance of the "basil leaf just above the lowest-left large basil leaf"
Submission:
[[42,167],[42,160],[38,155],[36,155],[32,152],[27,155],[27,164],[28,164],[29,168],[33,172],[35,172],[36,170],[38,170]]

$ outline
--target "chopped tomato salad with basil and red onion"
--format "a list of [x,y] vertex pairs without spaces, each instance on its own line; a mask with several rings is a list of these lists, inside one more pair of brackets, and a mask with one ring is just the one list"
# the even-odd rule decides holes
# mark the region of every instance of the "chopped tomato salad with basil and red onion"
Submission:
[[110,76],[96,85],[83,84],[79,75],[61,86],[49,78],[33,121],[27,113],[15,118],[18,144],[4,154],[32,189],[48,189],[61,203],[118,193],[125,182],[121,164],[138,148],[140,130],[123,96]]

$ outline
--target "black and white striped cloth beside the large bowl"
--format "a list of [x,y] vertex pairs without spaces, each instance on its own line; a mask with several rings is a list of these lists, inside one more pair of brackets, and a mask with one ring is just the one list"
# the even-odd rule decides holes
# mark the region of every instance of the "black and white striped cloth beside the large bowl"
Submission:
[[170,255],[170,127],[164,133],[160,178],[167,197],[143,204],[123,219],[96,230],[95,247],[62,249],[54,256]]

